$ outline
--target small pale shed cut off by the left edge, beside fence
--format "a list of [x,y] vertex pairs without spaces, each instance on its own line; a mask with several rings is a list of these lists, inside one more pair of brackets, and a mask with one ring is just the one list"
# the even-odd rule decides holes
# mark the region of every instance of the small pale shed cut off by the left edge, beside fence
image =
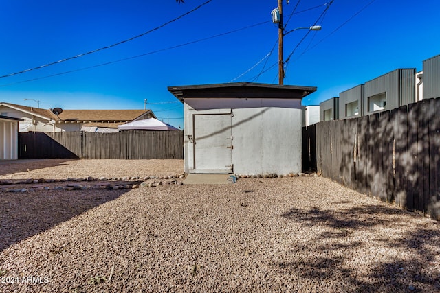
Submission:
[[19,121],[0,115],[0,160],[19,159]]

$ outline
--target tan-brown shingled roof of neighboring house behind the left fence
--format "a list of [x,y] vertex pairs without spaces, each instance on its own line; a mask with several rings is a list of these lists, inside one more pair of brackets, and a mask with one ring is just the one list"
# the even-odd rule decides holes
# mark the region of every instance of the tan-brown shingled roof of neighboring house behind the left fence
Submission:
[[[54,120],[56,122],[61,121],[77,121],[77,122],[126,122],[133,121],[137,118],[148,114],[150,117],[155,117],[151,110],[63,110],[63,113],[55,115],[52,110],[34,108],[28,106],[21,106],[17,104],[10,104],[0,102],[0,106],[6,106],[19,110],[29,115],[34,115],[47,120]],[[143,118],[143,117],[142,117]],[[107,127],[107,126],[104,126]],[[118,126],[115,126],[117,128]]]

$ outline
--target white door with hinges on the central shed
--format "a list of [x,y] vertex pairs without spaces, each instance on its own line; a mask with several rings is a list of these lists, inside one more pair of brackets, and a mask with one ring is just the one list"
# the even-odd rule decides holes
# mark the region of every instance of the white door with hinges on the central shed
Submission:
[[231,114],[195,114],[193,119],[193,172],[231,173]]

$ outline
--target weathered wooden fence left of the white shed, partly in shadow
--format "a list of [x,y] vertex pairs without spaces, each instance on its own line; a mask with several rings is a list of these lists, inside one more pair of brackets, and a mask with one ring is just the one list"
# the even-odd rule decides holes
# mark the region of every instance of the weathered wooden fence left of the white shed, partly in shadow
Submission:
[[183,159],[182,131],[19,133],[19,159]]

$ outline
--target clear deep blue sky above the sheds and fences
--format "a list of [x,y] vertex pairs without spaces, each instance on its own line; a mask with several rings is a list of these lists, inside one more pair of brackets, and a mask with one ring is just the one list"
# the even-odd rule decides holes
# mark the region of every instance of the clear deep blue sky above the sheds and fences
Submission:
[[[0,75],[119,43],[206,0],[185,2],[0,1]],[[330,0],[303,0],[292,17],[298,1],[289,2],[283,1],[287,31],[322,25],[303,42],[307,30],[296,30],[284,39],[285,58],[293,51],[285,84],[318,87],[303,100],[305,105],[319,104],[397,68],[419,71],[423,60],[440,54],[440,1],[334,0],[329,5]],[[140,109],[147,99],[151,103],[147,107],[158,117],[183,126],[181,104],[156,104],[177,101],[168,86],[232,80],[278,83],[278,69],[272,67],[278,60],[277,47],[270,54],[278,40],[270,15],[276,5],[276,0],[212,0],[121,45],[0,78],[0,101],[36,106],[23,99],[37,99],[41,108]],[[234,30],[239,31],[229,33]],[[126,58],[130,59],[118,61]],[[270,70],[260,74],[266,69]]]

